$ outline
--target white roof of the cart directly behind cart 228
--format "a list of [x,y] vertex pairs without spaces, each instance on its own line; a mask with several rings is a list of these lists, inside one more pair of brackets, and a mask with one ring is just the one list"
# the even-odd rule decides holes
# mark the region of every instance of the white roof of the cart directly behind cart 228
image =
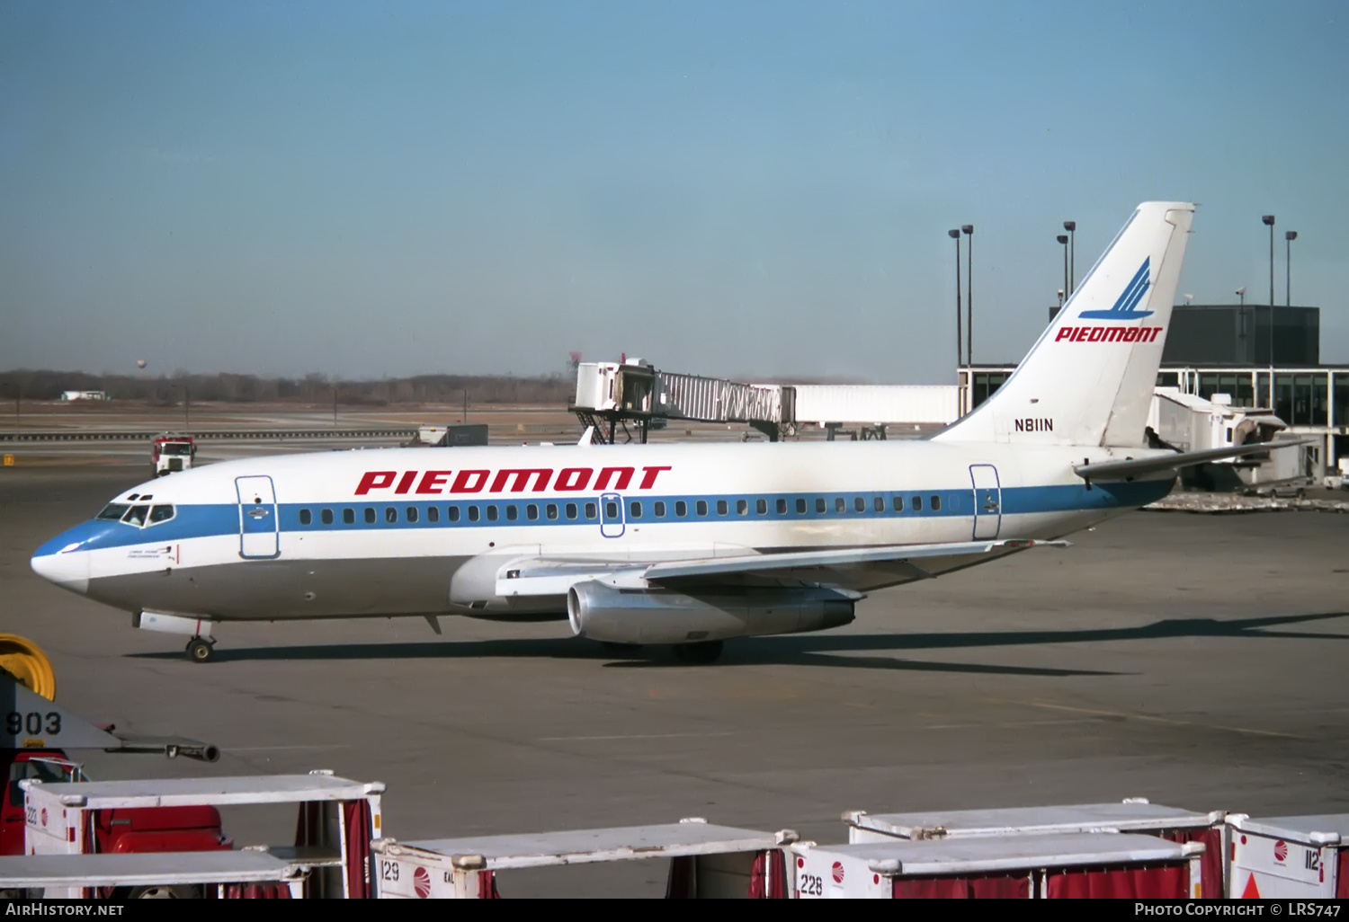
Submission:
[[1121,803],[1072,803],[1067,806],[1005,807],[989,810],[932,810],[925,813],[847,813],[847,822],[900,838],[943,836],[1014,836],[1048,832],[1098,832],[1102,829],[1178,829],[1211,826],[1222,813],[1193,813],[1178,807],[1124,801]]

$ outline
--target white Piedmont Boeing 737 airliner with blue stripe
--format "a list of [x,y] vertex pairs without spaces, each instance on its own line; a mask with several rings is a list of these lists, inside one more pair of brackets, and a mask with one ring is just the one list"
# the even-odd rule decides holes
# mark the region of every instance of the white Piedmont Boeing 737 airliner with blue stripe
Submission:
[[1144,438],[1193,216],[1140,205],[1006,384],[925,441],[229,461],[127,491],[32,569],[198,662],[231,620],[565,613],[688,662],[847,624],[863,593],[1062,543],[1244,453]]

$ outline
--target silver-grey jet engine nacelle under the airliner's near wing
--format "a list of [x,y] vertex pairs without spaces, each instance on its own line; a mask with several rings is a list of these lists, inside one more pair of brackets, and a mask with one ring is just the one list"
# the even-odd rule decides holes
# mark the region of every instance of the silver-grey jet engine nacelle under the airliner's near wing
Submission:
[[857,593],[733,586],[685,594],[579,582],[567,593],[577,636],[606,643],[696,643],[849,624]]

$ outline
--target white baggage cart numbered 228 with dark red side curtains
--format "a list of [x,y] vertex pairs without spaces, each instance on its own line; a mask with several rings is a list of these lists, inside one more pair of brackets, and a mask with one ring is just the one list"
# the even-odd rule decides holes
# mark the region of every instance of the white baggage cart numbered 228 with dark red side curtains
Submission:
[[1136,833],[793,845],[799,899],[1199,898],[1203,842]]

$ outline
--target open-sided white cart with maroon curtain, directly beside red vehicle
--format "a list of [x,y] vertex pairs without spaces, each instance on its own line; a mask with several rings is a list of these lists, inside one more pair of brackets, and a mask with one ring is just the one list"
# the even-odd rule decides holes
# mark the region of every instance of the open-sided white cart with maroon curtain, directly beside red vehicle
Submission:
[[[26,791],[30,855],[103,852],[101,830],[123,810],[175,807],[214,811],[220,806],[298,805],[295,844],[264,847],[266,851],[308,872],[305,896],[368,895],[370,842],[380,836],[380,794],[384,790],[380,782],[349,780],[318,771],[308,775],[82,783],[30,779],[20,786]],[[229,844],[221,844],[221,848],[229,848]],[[78,888],[69,895],[80,895]]]

